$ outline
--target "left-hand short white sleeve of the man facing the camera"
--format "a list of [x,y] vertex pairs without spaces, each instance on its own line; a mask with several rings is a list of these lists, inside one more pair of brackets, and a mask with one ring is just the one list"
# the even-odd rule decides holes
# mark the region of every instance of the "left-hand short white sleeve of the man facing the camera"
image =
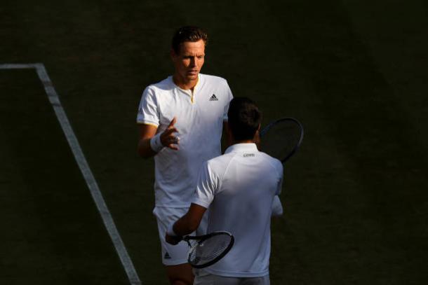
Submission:
[[155,92],[147,87],[142,92],[140,106],[138,106],[137,123],[159,126],[159,108]]

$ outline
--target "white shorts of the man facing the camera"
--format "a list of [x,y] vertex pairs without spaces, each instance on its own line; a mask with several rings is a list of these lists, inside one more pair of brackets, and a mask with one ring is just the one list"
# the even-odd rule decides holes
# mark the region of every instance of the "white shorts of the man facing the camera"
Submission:
[[[189,246],[186,242],[179,242],[177,245],[168,244],[165,240],[166,230],[170,223],[177,221],[187,213],[189,208],[169,208],[154,207],[153,214],[156,216],[159,239],[161,240],[161,254],[163,265],[179,265],[187,263]],[[208,224],[208,213],[203,215],[199,228],[191,235],[205,235]]]

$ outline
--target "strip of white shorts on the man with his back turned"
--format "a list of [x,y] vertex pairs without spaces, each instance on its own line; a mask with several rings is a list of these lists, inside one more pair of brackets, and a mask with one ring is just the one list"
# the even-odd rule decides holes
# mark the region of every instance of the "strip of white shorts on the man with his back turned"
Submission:
[[203,269],[193,272],[193,285],[270,285],[269,274],[262,277],[224,277]]

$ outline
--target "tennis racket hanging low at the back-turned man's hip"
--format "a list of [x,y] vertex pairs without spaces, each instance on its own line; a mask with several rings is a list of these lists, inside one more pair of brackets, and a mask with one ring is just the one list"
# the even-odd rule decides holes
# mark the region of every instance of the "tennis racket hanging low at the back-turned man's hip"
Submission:
[[183,240],[190,246],[187,261],[195,268],[213,265],[234,245],[234,236],[229,232],[211,232],[196,237],[187,235]]

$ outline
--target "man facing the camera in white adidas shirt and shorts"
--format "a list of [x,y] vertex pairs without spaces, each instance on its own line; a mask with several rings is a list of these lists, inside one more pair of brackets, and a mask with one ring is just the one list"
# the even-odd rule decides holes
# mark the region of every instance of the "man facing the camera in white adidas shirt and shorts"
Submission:
[[[208,41],[198,27],[178,29],[171,43],[173,76],[149,85],[142,93],[137,122],[138,153],[154,156],[157,219],[162,262],[170,284],[192,284],[187,245],[170,246],[166,229],[185,214],[196,186],[198,171],[206,160],[221,154],[223,125],[232,92],[225,79],[200,74]],[[201,227],[198,234],[205,232]]]

